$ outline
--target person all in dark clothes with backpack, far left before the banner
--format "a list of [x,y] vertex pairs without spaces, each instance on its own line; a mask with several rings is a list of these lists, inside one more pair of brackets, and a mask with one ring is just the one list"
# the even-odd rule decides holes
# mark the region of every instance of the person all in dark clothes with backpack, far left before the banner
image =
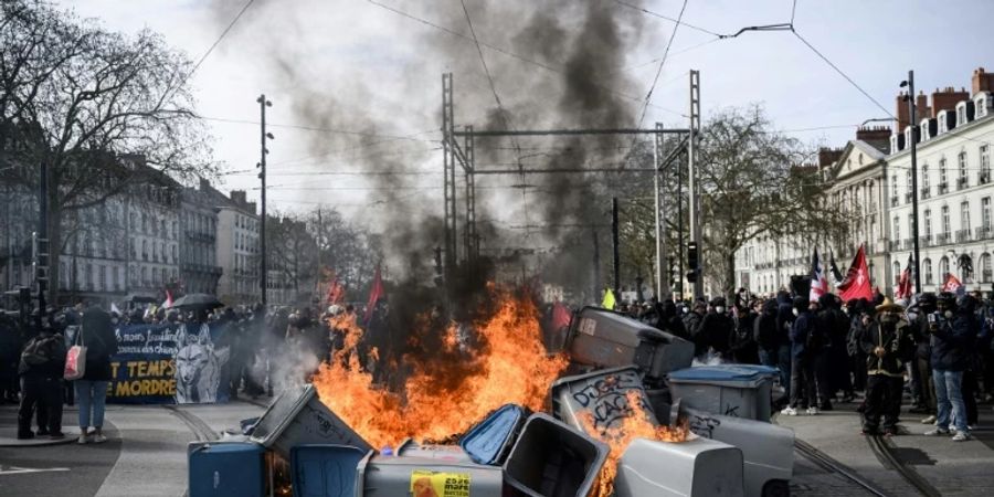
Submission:
[[[28,340],[21,352],[18,374],[21,377],[21,405],[18,409],[18,440],[33,438],[31,419],[35,408],[44,412],[39,419],[39,435],[52,440],[62,433],[62,372],[65,367],[65,341],[62,335],[43,324],[40,332]],[[43,417],[43,419],[42,419]]]

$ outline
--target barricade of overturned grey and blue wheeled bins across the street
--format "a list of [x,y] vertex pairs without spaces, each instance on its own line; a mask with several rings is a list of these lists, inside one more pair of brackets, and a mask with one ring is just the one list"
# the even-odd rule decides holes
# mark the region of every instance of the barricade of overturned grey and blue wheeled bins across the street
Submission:
[[768,422],[770,371],[688,368],[692,345],[592,308],[564,346],[578,374],[551,385],[551,416],[504,405],[459,445],[376,451],[311,385],[289,389],[242,436],[191,444],[189,496],[589,497],[609,447],[585,430],[618,426],[632,391],[653,423],[691,434],[632,442],[615,497],[789,495],[794,436]]

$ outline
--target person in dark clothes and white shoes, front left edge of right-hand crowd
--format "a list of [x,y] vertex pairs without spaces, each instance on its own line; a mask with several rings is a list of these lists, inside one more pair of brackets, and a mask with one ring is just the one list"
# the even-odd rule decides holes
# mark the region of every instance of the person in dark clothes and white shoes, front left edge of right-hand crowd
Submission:
[[794,297],[793,313],[797,317],[791,327],[791,404],[781,411],[795,416],[797,409],[806,405],[807,413],[818,413],[818,405],[825,400],[822,387],[815,380],[814,357],[821,348],[822,331],[814,311],[816,302]]

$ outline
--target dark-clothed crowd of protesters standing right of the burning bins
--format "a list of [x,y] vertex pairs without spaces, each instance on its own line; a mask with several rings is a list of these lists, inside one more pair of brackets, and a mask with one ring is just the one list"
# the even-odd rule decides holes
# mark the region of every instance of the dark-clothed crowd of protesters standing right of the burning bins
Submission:
[[692,341],[700,361],[778,368],[784,415],[858,402],[863,432],[892,436],[907,398],[907,414],[933,426],[926,435],[960,442],[977,426],[979,404],[994,403],[994,303],[979,292],[843,303],[743,288],[731,305],[719,297],[618,310]]

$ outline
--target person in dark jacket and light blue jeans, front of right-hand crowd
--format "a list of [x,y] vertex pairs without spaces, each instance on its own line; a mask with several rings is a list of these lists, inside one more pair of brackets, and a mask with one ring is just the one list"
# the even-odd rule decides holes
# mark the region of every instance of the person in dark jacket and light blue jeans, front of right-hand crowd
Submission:
[[949,435],[952,425],[956,431],[952,440],[962,442],[970,438],[966,405],[963,402],[963,371],[966,370],[972,337],[976,336],[975,320],[973,309],[969,316],[961,313],[955,295],[949,292],[939,294],[937,304],[937,313],[929,318],[929,331],[938,424],[934,430],[926,432],[926,435]]

